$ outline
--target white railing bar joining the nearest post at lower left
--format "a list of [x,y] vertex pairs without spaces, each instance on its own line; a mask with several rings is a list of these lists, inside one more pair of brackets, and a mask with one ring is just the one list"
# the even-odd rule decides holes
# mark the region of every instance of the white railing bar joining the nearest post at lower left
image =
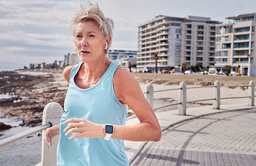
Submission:
[[39,127],[34,127],[33,129],[30,129],[28,131],[24,131],[22,133],[17,133],[15,136],[11,136],[11,137],[6,138],[4,140],[0,140],[0,148],[4,147],[6,145],[10,145],[11,143],[16,142],[18,140],[22,140],[23,138],[31,136],[34,133],[38,133],[40,131],[43,131],[44,129],[47,129],[51,126],[52,126],[51,123],[47,123],[47,124],[41,125]]

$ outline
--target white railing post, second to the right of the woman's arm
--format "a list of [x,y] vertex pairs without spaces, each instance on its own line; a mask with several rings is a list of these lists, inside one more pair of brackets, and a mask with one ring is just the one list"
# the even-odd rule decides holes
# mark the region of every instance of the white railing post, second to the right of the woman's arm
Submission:
[[178,114],[180,116],[186,115],[187,109],[187,85],[185,82],[180,82],[180,90],[179,90],[179,97],[178,97]]

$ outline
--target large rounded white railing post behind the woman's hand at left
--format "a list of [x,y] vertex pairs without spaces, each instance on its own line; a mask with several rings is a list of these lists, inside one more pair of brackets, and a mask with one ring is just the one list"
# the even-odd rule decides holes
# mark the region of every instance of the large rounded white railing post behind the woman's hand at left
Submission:
[[[42,116],[42,124],[51,122],[51,124],[58,125],[62,116],[63,109],[57,102],[50,102],[44,107]],[[57,165],[57,146],[60,136],[55,136],[52,140],[51,146],[44,140],[44,131],[42,131],[42,165]]]

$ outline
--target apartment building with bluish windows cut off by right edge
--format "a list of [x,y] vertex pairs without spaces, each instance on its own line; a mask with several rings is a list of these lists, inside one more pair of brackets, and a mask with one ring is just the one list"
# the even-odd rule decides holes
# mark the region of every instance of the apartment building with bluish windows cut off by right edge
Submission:
[[232,66],[239,75],[256,76],[254,48],[256,13],[226,17],[228,24],[216,26],[216,64]]

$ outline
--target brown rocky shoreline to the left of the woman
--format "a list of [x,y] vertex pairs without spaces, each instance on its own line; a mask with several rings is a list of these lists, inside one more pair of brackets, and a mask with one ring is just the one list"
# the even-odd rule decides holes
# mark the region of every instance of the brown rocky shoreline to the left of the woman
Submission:
[[61,72],[1,72],[0,96],[4,97],[0,98],[0,118],[15,117],[22,120],[21,126],[38,126],[45,105],[54,101],[63,107],[66,93]]

